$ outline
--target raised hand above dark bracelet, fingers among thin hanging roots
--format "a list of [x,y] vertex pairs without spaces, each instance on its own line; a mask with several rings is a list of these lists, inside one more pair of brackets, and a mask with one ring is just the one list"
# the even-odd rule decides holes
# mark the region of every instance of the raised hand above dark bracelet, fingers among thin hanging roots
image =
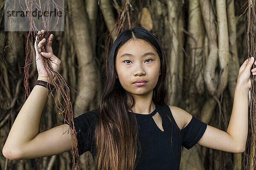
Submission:
[[[39,40],[41,40],[41,37],[44,36],[44,30],[38,31],[38,36],[39,36]],[[43,57],[49,58],[50,59],[50,63],[52,65],[52,68],[55,69],[56,71],[59,72],[60,70],[60,65],[61,65],[61,60],[58,59],[58,57],[56,57],[53,52],[52,52],[52,40],[53,40],[53,34],[51,34],[48,38],[48,42],[47,42],[47,52],[42,52],[42,47],[44,45],[44,43],[46,42],[46,39],[44,38],[43,40],[41,40],[38,45],[36,44],[36,42],[38,41],[38,36],[36,36],[36,40],[35,40],[35,53],[36,53],[36,67],[38,70],[38,79],[48,79],[48,75],[47,75],[47,71],[49,72],[49,70],[46,70],[44,68],[44,63],[43,63],[43,59],[40,57],[40,53]]]

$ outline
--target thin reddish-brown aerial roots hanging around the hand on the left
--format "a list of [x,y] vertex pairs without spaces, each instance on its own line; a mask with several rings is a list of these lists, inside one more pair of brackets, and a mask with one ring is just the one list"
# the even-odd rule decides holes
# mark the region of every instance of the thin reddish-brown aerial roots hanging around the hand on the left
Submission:
[[[49,11],[49,4],[52,4],[59,12],[59,8],[61,8],[61,7],[58,6],[55,3],[54,0],[46,0],[46,1],[47,1],[46,4],[48,6],[46,6],[46,7],[44,6],[44,8],[45,8],[44,10]],[[37,4],[33,0],[24,0],[24,4],[21,4],[19,2],[19,5],[21,6],[24,13],[26,13],[26,10],[34,11],[35,9],[42,12],[41,4]],[[66,11],[66,10],[64,9],[64,11]],[[68,12],[68,11],[66,11],[66,12]],[[34,42],[35,39],[36,39],[35,37],[38,36],[37,32],[39,30],[41,30],[41,29],[49,30],[48,29],[49,26],[47,25],[49,22],[47,21],[47,18],[42,17],[42,20],[40,20],[40,22],[41,22],[41,25],[42,25],[43,28],[38,29],[36,27],[34,18],[32,16],[29,16],[29,15],[26,16],[26,17],[29,20],[30,27],[29,27],[29,33],[27,35],[27,40],[26,40],[26,56],[25,56],[25,66],[24,66],[25,100],[27,99],[27,97],[30,94],[30,90],[29,90],[29,67],[30,67],[30,64],[32,64],[31,63],[32,51],[34,50],[32,42]],[[57,20],[57,23],[55,23],[55,26],[51,30],[45,31],[45,33],[43,35],[38,36],[37,42],[36,42],[36,48],[37,49],[35,49],[35,50],[38,51],[39,57],[42,58],[44,68],[46,69],[47,75],[49,77],[49,79],[48,79],[49,82],[51,82],[52,85],[55,87],[56,91],[59,91],[60,94],[61,94],[61,96],[57,95],[57,99],[58,99],[58,103],[57,103],[54,95],[52,94],[52,91],[50,91],[50,93],[53,96],[55,105],[60,110],[59,114],[61,114],[63,119],[64,119],[64,123],[67,123],[67,124],[70,125],[70,128],[67,131],[72,129],[72,133],[71,133],[71,138],[72,138],[72,160],[73,160],[72,170],[74,170],[75,169],[75,164],[76,164],[75,163],[75,158],[78,156],[78,147],[77,147],[77,141],[75,141],[75,139],[76,139],[76,129],[74,127],[73,110],[72,110],[72,104],[70,102],[70,86],[67,85],[67,83],[65,82],[63,77],[61,77],[61,74],[59,74],[58,71],[56,71],[54,68],[52,68],[51,59],[43,57],[41,55],[41,53],[39,53],[39,50],[38,50],[38,42],[40,42],[43,38],[45,38],[47,40],[47,42],[44,43],[41,51],[42,52],[47,52],[47,44],[49,44],[49,42],[48,42],[49,35],[52,33],[53,30],[55,30],[55,27],[57,26],[57,24],[58,24],[58,20]],[[12,30],[12,28],[11,28],[11,30]],[[12,31],[11,31],[11,33],[12,33]],[[31,38],[31,41],[29,41],[29,38]],[[12,40],[13,40],[13,38],[12,38]],[[12,41],[10,42],[9,45],[11,45],[11,43],[12,43]],[[4,49],[6,49],[8,46],[6,46]],[[49,89],[49,90],[51,90],[51,89]],[[76,92],[76,90],[74,90],[74,91]],[[48,93],[47,93],[47,96],[49,97]],[[61,99],[63,99],[63,102],[60,101],[60,97],[61,97]],[[51,100],[51,98],[49,98],[49,99]]]

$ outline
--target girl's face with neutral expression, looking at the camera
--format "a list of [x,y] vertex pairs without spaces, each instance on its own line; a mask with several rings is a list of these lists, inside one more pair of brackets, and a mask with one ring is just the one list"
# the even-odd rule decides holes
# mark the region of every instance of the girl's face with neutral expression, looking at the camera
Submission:
[[[131,94],[153,93],[160,75],[160,58],[157,51],[145,40],[129,40],[116,55],[116,78]],[[134,83],[137,80],[146,82]]]

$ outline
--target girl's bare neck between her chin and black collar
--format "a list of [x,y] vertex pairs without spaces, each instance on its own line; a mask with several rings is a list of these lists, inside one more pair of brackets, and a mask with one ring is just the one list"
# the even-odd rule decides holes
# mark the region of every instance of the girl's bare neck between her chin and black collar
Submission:
[[133,108],[134,113],[149,114],[155,109],[154,102],[152,101],[153,91],[144,95],[132,94],[135,100]]

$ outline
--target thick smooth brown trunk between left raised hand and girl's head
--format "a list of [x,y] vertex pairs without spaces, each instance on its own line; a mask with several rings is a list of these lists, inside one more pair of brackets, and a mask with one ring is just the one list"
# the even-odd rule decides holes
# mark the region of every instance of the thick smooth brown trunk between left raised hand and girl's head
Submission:
[[73,24],[73,43],[79,63],[79,82],[77,87],[81,96],[77,96],[75,101],[74,111],[77,115],[93,109],[88,108],[88,106],[95,97],[99,77],[93,58],[93,48],[90,43],[91,35],[88,29],[90,23],[87,13],[81,4],[81,0],[71,3],[71,9],[73,9],[74,14],[71,20],[72,23],[76,23]]

